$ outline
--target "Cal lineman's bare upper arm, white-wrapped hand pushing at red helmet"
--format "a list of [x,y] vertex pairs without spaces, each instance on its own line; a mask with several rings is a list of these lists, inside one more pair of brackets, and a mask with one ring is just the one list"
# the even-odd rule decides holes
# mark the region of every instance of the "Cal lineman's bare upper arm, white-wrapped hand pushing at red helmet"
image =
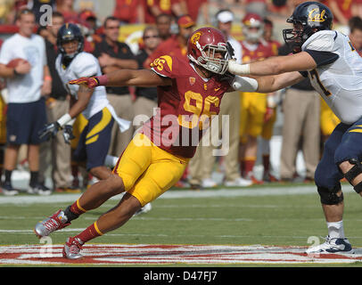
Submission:
[[239,64],[229,61],[228,71],[235,75],[268,76],[291,71],[306,71],[317,68],[317,63],[309,53],[276,56],[265,61]]

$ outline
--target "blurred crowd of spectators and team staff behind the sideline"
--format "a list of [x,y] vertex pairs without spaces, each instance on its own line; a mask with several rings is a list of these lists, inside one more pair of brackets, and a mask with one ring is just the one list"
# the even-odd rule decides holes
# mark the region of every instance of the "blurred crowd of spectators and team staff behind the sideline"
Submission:
[[[172,54],[187,61],[188,37],[195,28],[207,25],[225,34],[234,48],[236,61],[247,63],[292,52],[284,45],[280,29],[276,27],[286,26],[286,18],[292,14],[296,5],[304,1],[115,0],[114,10],[106,17],[97,14],[95,5],[83,5],[85,9],[76,9],[76,2],[78,7],[82,7],[82,1],[73,0],[0,0],[1,44],[17,32],[19,14],[23,9],[29,9],[35,14],[37,25],[33,32],[45,40],[49,77],[52,80],[52,90],[44,94],[48,121],[60,118],[69,110],[70,95],[54,69],[58,53],[57,33],[64,23],[78,24],[85,37],[84,51],[95,55],[104,74],[115,69],[150,69],[150,63],[164,54]],[[98,1],[98,4],[102,2]],[[331,8],[335,18],[334,27],[348,34],[353,48],[362,54],[362,0],[321,2]],[[42,9],[42,6],[45,4],[52,8],[51,24],[49,18],[44,17],[47,10]],[[128,27],[136,28],[130,28],[126,36],[121,37],[121,30],[127,30]],[[1,87],[0,174],[4,185],[11,182],[11,172],[9,169],[7,173],[5,171],[12,163],[9,162],[10,154],[5,154],[9,140],[6,137],[6,103],[9,99],[6,80],[1,81]],[[137,115],[152,116],[153,108],[157,107],[156,89],[107,87],[106,92],[117,115],[133,121]],[[222,127],[218,133],[210,130],[206,136],[219,137],[223,135],[223,126],[227,127],[227,153],[215,156],[213,151],[217,147],[206,143],[203,145],[202,141],[177,186],[192,189],[216,187],[220,182],[215,179],[215,172],[222,175],[221,183],[226,186],[244,186],[244,179],[254,184],[313,182],[324,142],[334,126],[339,124],[339,119],[313,90],[308,79],[273,94],[234,92],[226,94],[224,98],[220,115],[229,116],[228,124],[223,125],[220,119]],[[270,146],[278,116],[282,118],[279,132],[282,146],[279,169],[273,169]],[[70,145],[59,139],[42,142],[39,146],[38,174],[34,179],[45,187],[44,174],[51,169],[51,192],[82,191],[95,181],[95,177],[71,159],[71,151],[77,145],[78,127],[81,125],[82,118],[78,118],[73,126],[76,139]],[[135,131],[136,126],[120,133],[113,126],[109,154],[119,157]],[[305,164],[303,174],[297,171],[299,151],[302,152]],[[29,169],[29,146],[21,146],[15,156],[17,168]],[[258,159],[263,169],[262,175],[255,173]],[[34,163],[31,167],[34,168]],[[34,169],[29,171],[33,173]]]

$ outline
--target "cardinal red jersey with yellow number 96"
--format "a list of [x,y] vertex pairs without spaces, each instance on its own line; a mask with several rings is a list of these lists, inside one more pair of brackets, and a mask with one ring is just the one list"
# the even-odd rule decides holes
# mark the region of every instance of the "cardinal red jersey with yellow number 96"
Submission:
[[189,61],[163,55],[152,62],[152,70],[172,79],[172,85],[158,86],[158,109],[144,123],[142,133],[160,149],[192,158],[199,141],[218,115],[220,102],[230,87],[227,80],[205,81]]

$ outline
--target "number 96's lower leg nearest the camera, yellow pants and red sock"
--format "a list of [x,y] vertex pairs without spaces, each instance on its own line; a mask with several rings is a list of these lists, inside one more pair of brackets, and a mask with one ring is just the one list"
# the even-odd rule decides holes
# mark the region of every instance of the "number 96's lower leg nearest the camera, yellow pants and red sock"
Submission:
[[[151,163],[144,169],[143,174],[137,179],[136,183],[131,185],[127,182],[128,179],[125,179],[125,188],[128,192],[123,196],[119,204],[103,214],[103,216],[100,216],[85,231],[80,232],[75,237],[70,237],[64,246],[63,256],[70,259],[81,257],[79,251],[86,241],[119,228],[135,214],[136,210],[144,207],[144,205],[150,203],[177,183],[185,171],[187,160],[177,158],[154,145],[152,145],[151,149]],[[142,152],[132,153],[132,157],[128,157],[129,153],[126,154],[125,158],[124,155],[122,159],[129,159],[129,163],[116,167],[114,172],[122,177],[127,177],[128,168],[132,168],[131,164],[135,164],[135,159],[137,161],[136,154],[144,156]]]

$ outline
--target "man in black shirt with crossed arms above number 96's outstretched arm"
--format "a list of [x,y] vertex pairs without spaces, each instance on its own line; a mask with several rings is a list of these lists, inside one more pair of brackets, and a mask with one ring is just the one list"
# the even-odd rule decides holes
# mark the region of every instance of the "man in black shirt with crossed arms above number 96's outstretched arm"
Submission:
[[[95,45],[95,57],[101,65],[104,74],[116,69],[137,69],[138,64],[135,55],[129,46],[119,42],[119,20],[112,16],[106,18],[103,24],[103,41]],[[133,102],[127,86],[107,87],[107,98],[120,118],[130,121],[134,118]],[[109,154],[119,157],[122,151],[131,141],[133,127],[126,132],[120,133],[119,126],[114,124],[111,133],[111,146]]]

